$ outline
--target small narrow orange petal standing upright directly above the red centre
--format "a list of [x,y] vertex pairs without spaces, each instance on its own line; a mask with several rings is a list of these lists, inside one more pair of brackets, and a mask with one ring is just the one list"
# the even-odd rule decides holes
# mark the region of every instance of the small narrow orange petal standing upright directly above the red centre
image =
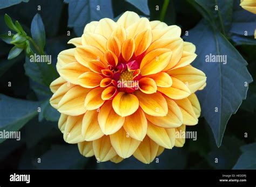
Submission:
[[126,39],[122,45],[122,56],[125,61],[129,61],[135,50],[135,42],[133,38]]

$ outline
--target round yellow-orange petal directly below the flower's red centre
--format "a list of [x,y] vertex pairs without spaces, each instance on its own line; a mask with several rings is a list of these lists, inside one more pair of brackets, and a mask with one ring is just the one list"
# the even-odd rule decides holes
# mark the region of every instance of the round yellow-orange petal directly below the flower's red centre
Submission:
[[112,106],[119,116],[130,116],[138,109],[139,100],[131,93],[119,92],[114,97]]

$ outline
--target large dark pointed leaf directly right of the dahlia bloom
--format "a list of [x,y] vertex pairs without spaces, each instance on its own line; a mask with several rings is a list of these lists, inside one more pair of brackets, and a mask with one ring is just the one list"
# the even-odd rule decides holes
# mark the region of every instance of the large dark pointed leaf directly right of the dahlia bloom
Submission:
[[[214,32],[206,21],[201,21],[188,33],[189,36],[184,38],[197,46],[198,56],[192,65],[204,71],[207,76],[206,87],[197,92],[202,115],[211,126],[215,141],[220,146],[227,121],[246,98],[252,77],[246,68],[247,62],[237,49],[221,33]],[[227,63],[207,63],[206,57],[210,54],[226,55]]]

